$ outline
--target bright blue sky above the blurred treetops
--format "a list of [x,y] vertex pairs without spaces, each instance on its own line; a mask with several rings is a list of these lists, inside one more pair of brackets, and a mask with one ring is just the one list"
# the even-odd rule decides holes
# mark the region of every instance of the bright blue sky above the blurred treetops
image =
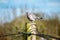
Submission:
[[[0,17],[9,15],[6,12],[6,10],[9,10],[11,18],[13,18],[11,9],[24,8],[25,5],[29,11],[34,8],[48,15],[51,15],[52,12],[60,12],[60,0],[0,0]],[[17,15],[19,15],[19,9]]]

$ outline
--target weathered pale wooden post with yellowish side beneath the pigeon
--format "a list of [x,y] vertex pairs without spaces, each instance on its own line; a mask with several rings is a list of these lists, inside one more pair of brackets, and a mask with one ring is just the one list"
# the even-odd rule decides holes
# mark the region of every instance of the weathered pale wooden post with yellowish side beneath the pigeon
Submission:
[[[27,32],[36,34],[36,23],[27,23]],[[27,40],[36,40],[36,35],[27,35]]]

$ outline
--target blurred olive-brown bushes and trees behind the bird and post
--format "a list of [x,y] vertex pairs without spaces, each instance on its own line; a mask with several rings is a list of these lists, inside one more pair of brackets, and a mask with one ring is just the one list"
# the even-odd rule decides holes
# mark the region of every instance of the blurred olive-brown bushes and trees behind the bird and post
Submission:
[[[36,16],[41,16],[41,13],[35,13]],[[42,15],[43,17],[44,15]],[[21,15],[20,17],[16,17],[10,23],[5,23],[0,25],[0,35],[25,32],[25,23],[29,22],[26,15]],[[60,37],[60,20],[57,16],[55,18],[48,18],[48,20],[36,20],[36,26],[38,33],[49,34],[55,37]],[[40,37],[37,37],[39,40]],[[25,35],[19,34],[8,37],[0,37],[0,40],[25,40]]]

